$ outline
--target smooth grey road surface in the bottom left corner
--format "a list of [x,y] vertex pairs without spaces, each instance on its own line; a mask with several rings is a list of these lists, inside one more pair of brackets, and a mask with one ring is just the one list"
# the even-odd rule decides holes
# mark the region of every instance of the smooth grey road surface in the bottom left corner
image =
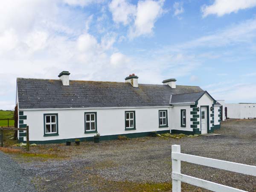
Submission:
[[0,191],[35,192],[26,171],[3,152],[0,152]]

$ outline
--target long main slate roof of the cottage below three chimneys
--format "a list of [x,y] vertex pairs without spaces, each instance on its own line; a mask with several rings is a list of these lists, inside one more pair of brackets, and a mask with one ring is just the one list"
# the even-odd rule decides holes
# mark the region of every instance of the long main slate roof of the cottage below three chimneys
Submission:
[[[20,109],[168,106],[171,95],[198,93],[196,86],[139,84],[125,82],[75,81],[17,78]],[[198,93],[199,94],[199,93]]]

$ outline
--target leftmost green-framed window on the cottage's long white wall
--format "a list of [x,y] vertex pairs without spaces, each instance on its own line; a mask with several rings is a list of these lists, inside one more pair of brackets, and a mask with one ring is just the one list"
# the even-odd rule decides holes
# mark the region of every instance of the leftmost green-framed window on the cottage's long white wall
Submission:
[[58,114],[44,114],[44,136],[58,135]]

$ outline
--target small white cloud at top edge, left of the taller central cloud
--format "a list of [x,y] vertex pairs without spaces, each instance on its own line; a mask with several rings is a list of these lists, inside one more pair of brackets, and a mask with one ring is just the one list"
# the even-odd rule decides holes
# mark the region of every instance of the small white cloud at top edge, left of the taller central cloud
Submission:
[[136,6],[128,3],[127,0],[112,0],[109,4],[113,21],[128,25],[136,14]]

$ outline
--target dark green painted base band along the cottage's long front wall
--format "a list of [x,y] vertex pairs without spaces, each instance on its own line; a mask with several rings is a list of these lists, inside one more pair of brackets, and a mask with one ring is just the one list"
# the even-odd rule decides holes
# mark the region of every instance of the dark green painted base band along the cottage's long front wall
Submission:
[[[157,134],[170,133],[170,130],[157,131]],[[151,137],[150,132],[142,132],[142,133],[131,133],[131,134],[119,134],[121,136],[126,136],[128,138],[136,138],[136,137]],[[100,140],[117,140],[119,135],[105,135],[100,136]],[[79,139],[80,141],[93,141],[94,137],[81,137],[81,138],[72,138],[72,139],[62,139],[62,140],[47,140],[47,141],[29,141],[29,143],[36,144],[48,144],[48,143],[66,143],[66,141],[75,142],[75,139]]]

